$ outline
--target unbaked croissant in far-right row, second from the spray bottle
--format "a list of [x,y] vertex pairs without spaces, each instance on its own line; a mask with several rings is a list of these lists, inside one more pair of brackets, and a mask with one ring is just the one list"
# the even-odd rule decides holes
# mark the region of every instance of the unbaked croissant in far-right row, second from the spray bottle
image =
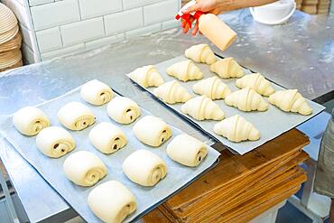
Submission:
[[220,78],[240,78],[244,76],[244,70],[233,58],[225,58],[211,64],[210,70],[218,74]]

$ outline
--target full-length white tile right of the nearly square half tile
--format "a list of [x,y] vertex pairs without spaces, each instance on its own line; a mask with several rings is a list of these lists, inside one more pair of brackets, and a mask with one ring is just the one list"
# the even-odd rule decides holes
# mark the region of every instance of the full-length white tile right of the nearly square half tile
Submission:
[[60,26],[64,46],[93,41],[105,36],[103,18],[97,17]]

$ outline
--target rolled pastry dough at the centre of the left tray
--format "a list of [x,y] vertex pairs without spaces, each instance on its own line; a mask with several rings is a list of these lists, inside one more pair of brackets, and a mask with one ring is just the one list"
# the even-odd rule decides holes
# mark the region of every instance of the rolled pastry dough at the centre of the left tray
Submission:
[[102,122],[89,132],[90,143],[102,153],[115,153],[127,143],[126,136],[116,125]]

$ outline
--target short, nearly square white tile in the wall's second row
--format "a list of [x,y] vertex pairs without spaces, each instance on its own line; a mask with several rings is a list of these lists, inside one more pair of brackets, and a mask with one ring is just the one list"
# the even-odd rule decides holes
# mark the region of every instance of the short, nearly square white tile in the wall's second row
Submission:
[[38,31],[36,32],[36,37],[38,46],[42,53],[48,51],[55,51],[62,48],[59,27]]

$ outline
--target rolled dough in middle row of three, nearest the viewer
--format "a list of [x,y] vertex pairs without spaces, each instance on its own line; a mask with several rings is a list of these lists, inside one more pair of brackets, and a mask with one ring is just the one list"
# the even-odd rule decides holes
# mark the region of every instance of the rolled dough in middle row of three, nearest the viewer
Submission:
[[131,181],[150,187],[166,176],[167,166],[158,155],[137,150],[125,158],[123,172]]

